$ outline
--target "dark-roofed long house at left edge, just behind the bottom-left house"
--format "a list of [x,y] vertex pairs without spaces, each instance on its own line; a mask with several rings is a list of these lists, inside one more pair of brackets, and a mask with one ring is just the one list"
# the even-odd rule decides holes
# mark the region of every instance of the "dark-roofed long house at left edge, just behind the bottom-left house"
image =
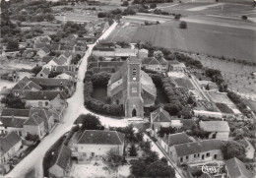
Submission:
[[16,132],[23,136],[23,123],[30,118],[30,109],[4,108],[0,117],[0,133]]

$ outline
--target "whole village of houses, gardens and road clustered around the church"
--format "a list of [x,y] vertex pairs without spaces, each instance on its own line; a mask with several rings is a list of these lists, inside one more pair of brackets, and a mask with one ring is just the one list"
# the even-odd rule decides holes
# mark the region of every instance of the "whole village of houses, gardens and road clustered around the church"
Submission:
[[254,108],[219,70],[108,40],[123,22],[75,21],[62,5],[52,9],[67,34],[1,43],[0,175],[255,177]]

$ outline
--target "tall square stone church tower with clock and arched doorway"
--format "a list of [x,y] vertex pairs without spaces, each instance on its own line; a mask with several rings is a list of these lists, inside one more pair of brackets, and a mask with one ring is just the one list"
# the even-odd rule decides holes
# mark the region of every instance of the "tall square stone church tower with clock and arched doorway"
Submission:
[[137,58],[130,58],[128,60],[125,116],[143,117],[144,101],[141,95],[141,62]]

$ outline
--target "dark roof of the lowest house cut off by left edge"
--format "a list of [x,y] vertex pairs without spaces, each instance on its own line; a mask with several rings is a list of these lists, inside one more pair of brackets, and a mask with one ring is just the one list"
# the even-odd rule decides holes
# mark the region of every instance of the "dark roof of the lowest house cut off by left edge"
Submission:
[[16,144],[21,141],[21,138],[15,133],[11,132],[4,138],[0,138],[0,152],[1,155],[8,152],[11,148],[13,148]]

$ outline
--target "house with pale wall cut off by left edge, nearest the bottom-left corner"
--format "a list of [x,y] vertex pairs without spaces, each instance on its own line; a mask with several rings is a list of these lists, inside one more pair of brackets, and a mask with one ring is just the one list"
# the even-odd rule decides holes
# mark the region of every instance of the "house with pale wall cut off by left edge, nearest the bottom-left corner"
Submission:
[[21,147],[22,139],[15,132],[0,138],[0,164],[10,160]]

